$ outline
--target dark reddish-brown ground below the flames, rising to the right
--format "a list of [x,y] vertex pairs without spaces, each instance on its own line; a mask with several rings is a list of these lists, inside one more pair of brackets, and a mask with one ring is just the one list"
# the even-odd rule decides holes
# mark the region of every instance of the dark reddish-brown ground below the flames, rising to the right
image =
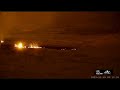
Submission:
[[114,76],[120,76],[119,34],[80,36],[60,43],[78,49],[0,49],[0,78],[90,78],[96,69],[112,69]]

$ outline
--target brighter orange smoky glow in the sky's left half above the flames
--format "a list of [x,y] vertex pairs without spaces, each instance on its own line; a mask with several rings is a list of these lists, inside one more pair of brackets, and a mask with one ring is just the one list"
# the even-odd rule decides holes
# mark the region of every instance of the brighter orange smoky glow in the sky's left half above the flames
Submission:
[[[1,12],[1,30],[4,37],[17,34],[27,37],[27,33],[36,29],[43,31],[54,22],[54,12]],[[14,33],[14,35],[13,35]],[[20,36],[22,36],[20,35]],[[17,35],[19,37],[19,35]]]

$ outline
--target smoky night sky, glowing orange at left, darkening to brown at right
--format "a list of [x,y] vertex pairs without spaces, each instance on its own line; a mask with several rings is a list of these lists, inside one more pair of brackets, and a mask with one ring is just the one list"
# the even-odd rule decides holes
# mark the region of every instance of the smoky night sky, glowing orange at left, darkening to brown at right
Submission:
[[4,37],[55,38],[119,31],[120,12],[1,12]]

